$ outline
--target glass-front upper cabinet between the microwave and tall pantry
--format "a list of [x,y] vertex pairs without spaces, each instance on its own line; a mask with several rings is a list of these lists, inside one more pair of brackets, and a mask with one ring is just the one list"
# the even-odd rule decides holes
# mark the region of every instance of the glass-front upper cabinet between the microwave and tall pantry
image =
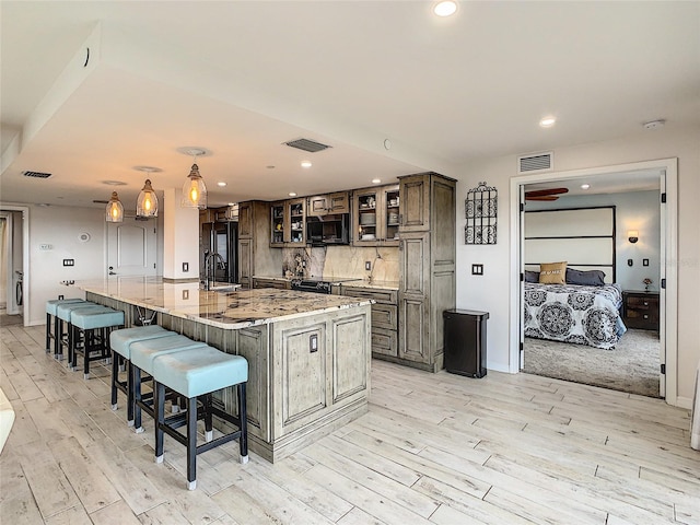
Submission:
[[358,189],[353,196],[352,243],[398,246],[398,185]]

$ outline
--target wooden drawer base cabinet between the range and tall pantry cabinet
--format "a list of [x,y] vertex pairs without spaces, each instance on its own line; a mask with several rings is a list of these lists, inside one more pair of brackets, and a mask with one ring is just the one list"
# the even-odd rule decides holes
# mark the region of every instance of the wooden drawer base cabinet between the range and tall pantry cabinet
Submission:
[[372,355],[398,355],[398,296],[396,290],[342,285],[341,295],[373,299]]

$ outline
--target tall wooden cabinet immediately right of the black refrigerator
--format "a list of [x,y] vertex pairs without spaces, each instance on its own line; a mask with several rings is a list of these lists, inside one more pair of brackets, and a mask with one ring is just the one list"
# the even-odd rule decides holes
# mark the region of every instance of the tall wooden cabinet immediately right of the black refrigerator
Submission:
[[278,276],[282,271],[280,249],[270,249],[269,202],[250,200],[238,205],[238,282],[253,288],[253,276]]

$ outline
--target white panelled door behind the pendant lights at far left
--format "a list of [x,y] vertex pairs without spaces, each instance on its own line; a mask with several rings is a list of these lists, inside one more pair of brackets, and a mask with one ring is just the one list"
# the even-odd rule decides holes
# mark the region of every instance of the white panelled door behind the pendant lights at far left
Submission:
[[155,276],[156,220],[107,223],[107,275]]

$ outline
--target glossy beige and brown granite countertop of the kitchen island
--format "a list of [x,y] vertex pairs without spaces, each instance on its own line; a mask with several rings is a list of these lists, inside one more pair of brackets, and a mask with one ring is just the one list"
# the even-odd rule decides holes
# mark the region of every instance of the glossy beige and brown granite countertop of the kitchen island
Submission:
[[371,304],[364,299],[293,290],[205,291],[198,282],[165,282],[161,277],[118,277],[75,281],[74,285],[85,292],[226,329]]

